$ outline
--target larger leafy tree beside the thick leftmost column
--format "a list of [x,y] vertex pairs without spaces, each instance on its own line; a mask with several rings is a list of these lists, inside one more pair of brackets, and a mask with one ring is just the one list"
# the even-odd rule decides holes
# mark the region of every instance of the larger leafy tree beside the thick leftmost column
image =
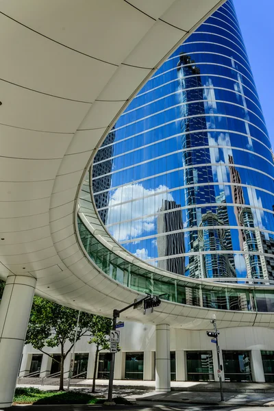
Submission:
[[[32,344],[35,349],[60,363],[59,390],[64,390],[64,360],[74,346],[77,317],[78,311],[76,310],[34,297],[25,344]],[[82,336],[92,335],[92,319],[92,314],[80,313],[76,341],[79,341]],[[67,341],[70,345],[65,351]],[[60,361],[44,351],[44,347],[60,347]]]

